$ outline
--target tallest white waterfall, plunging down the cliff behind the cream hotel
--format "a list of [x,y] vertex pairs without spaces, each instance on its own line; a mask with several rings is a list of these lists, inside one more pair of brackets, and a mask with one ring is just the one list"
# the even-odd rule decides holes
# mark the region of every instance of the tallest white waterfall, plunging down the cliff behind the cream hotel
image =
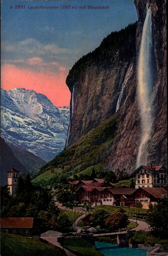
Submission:
[[148,165],[148,142],[153,125],[151,94],[154,84],[154,70],[152,64],[153,46],[151,26],[151,9],[147,7],[137,63],[137,96],[141,120],[141,141],[136,159],[137,168],[142,164]]

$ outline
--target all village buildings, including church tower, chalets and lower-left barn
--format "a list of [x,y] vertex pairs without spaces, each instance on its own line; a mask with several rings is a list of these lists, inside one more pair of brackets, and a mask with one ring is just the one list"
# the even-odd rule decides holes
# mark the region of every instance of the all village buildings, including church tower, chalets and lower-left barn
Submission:
[[[7,173],[9,193],[14,195],[17,191],[20,172],[13,168]],[[164,165],[139,166],[133,175],[135,176],[135,188],[115,187],[114,183],[100,178],[67,180],[66,184],[73,187],[73,191],[75,191],[75,201],[72,202],[72,205],[77,207],[78,205],[86,206],[89,204],[91,208],[98,205],[130,208],[135,207],[139,202],[142,209],[148,209],[150,204],[156,205],[160,199],[167,196],[165,189],[168,184],[167,169]],[[61,204],[58,201],[60,189],[55,189],[53,192],[55,206],[65,206],[66,202]],[[84,226],[90,225],[90,217],[84,220]],[[1,218],[1,232],[21,233],[24,236],[30,236],[32,229],[33,218]]]

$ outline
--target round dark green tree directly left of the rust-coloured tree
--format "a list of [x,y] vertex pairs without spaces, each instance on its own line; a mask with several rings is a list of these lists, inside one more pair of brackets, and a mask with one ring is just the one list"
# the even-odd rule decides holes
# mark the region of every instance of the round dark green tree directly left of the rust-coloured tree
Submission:
[[105,221],[107,217],[108,217],[107,210],[104,210],[104,209],[94,210],[91,225],[93,227],[100,226],[102,231],[105,228]]

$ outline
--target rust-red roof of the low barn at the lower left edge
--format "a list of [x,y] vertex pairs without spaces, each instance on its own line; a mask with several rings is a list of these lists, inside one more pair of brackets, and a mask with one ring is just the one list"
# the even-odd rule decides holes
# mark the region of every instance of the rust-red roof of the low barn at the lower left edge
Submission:
[[0,218],[1,228],[32,228],[33,218]]

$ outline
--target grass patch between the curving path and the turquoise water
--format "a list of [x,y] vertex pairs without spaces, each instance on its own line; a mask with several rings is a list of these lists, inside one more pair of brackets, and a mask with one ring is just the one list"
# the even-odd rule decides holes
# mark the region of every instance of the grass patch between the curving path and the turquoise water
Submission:
[[102,256],[94,246],[81,238],[67,238],[64,241],[64,246],[74,253],[78,251],[83,256]]

